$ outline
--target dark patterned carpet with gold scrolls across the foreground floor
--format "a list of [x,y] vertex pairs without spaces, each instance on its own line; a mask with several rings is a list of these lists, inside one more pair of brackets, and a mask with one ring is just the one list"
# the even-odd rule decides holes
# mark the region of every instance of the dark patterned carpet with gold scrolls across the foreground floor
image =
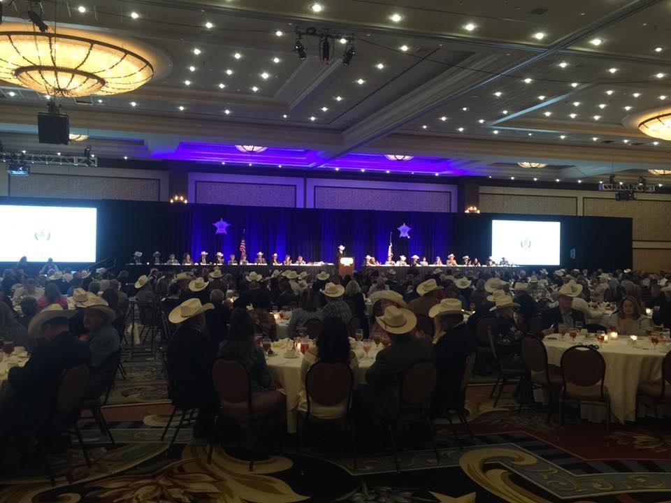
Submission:
[[[52,488],[41,467],[14,463],[3,470],[0,503],[671,502],[671,434],[661,442],[654,423],[616,425],[606,439],[603,425],[575,416],[563,428],[556,418],[547,425],[544,411],[535,407],[518,416],[517,404],[505,394],[495,408],[488,384],[468,390],[475,437],[461,435],[463,451],[449,426],[438,425],[440,464],[429,444],[401,451],[401,474],[388,449],[361,453],[354,472],[349,451],[342,451],[349,442],[338,434],[310,442],[322,450],[308,451],[304,475],[294,464],[289,436],[281,453],[259,453],[254,472],[247,469],[247,449],[236,442],[217,446],[208,464],[206,444],[194,441],[189,428],[169,451],[173,430],[166,442],[160,440],[171,412],[160,365],[150,360],[125,366],[127,381],[120,381],[115,402],[104,409],[116,446],[82,418],[92,467],[75,448],[52,456]],[[276,443],[265,444],[274,449]]]

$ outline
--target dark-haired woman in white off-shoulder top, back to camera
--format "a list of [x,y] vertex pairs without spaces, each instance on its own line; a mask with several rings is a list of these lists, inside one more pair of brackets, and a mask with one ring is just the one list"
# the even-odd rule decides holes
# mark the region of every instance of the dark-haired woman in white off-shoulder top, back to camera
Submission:
[[[317,337],[316,344],[310,344],[310,349],[305,353],[301,363],[301,381],[303,389],[298,394],[298,410],[308,410],[308,398],[305,395],[305,376],[308,370],[317,362],[344,363],[352,369],[353,385],[356,386],[356,370],[359,368],[359,360],[356,359],[354,351],[349,349],[349,337],[347,326],[338,318],[324,319],[324,328]],[[347,400],[337,405],[322,405],[310,400],[310,416],[320,419],[335,419],[345,415]]]

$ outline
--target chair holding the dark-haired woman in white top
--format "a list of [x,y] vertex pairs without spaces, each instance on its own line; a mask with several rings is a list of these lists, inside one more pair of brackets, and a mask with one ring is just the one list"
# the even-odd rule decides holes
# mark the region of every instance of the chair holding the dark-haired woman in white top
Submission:
[[[345,363],[318,361],[308,369],[308,374],[305,375],[305,398],[307,398],[308,407],[305,411],[298,410],[298,442],[296,443],[296,449],[300,458],[301,475],[305,474],[303,469],[305,431],[310,423],[345,425],[345,428],[349,430],[350,437],[352,437],[352,462],[356,472],[356,437],[351,416],[353,388],[354,374]],[[319,417],[313,411],[315,405],[334,407],[343,402],[346,403],[344,414],[336,418]]]

